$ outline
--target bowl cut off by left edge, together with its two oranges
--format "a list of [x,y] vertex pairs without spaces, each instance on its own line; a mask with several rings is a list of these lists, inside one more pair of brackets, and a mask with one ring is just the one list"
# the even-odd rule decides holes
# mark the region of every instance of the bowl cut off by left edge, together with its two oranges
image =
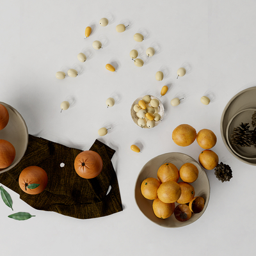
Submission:
[[20,113],[0,102],[0,173],[12,169],[28,147],[28,127]]

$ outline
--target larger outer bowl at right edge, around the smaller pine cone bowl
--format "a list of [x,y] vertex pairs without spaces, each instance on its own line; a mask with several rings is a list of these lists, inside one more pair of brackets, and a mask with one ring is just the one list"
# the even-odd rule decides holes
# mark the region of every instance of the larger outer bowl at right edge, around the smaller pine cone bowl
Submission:
[[[232,117],[237,113],[239,113],[240,111],[244,109],[250,109],[250,108],[256,108],[256,87],[255,86],[247,88],[237,93],[234,97],[232,97],[231,100],[229,100],[221,116],[220,131],[221,131],[221,137],[225,146],[234,157],[236,157],[237,159],[239,159],[240,161],[246,164],[256,165],[256,159],[245,159],[244,157],[237,156],[237,154],[228,145],[227,135],[226,135],[227,125],[228,125],[228,122],[230,122],[230,120],[232,119]],[[251,157],[251,154],[246,157]]]

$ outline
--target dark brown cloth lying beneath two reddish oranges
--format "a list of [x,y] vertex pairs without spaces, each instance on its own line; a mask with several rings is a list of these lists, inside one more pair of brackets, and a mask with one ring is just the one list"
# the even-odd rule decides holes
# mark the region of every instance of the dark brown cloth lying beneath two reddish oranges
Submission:
[[[74,169],[74,160],[82,150],[29,135],[24,157],[11,170],[0,174],[0,182],[19,193],[24,202],[38,210],[54,211],[79,219],[122,211],[118,180],[111,163],[115,150],[99,140],[95,140],[90,150],[102,157],[103,168],[97,177],[83,179]],[[65,166],[61,167],[61,163]],[[19,187],[20,172],[33,165],[40,166],[48,175],[47,186],[38,195],[28,195]],[[111,190],[106,195],[109,186]]]

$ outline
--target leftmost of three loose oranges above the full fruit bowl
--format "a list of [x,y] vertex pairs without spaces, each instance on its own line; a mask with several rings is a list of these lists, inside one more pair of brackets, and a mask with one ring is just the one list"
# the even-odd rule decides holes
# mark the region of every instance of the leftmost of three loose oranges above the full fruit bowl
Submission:
[[187,147],[196,140],[196,130],[188,124],[180,124],[172,132],[172,140],[181,147]]

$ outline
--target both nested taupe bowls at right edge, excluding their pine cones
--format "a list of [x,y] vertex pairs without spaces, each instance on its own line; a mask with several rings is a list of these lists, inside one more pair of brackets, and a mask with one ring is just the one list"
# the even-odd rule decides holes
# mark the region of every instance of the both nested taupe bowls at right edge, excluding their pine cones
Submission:
[[[255,108],[256,87],[254,86],[237,93],[231,100],[229,100],[227,106],[223,110],[220,121],[221,137],[229,152],[240,161],[252,165],[256,165],[256,148],[250,147],[246,149],[236,147],[234,149],[234,147],[230,147],[230,145],[228,145],[228,138],[230,138],[232,128],[234,129],[234,126],[237,125],[237,122],[245,123],[246,120],[248,120],[248,112],[244,110]],[[240,113],[242,114],[240,115]],[[253,129],[252,126],[250,129],[251,128]]]

